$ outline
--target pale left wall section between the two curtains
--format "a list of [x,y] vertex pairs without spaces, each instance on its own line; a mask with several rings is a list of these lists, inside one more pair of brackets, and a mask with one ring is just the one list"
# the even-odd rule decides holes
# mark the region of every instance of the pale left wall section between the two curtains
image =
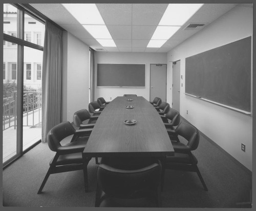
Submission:
[[68,32],[63,34],[62,121],[89,104],[89,46]]

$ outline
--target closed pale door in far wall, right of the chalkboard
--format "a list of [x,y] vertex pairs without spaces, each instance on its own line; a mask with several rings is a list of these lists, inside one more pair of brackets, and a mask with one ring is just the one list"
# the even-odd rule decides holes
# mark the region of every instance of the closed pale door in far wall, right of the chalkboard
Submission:
[[150,65],[150,101],[160,97],[166,102],[166,64]]

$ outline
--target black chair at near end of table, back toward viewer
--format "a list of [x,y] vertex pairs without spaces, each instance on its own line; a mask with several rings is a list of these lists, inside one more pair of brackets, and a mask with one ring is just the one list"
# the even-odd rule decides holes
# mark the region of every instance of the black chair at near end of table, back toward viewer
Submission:
[[97,169],[95,206],[161,206],[160,179],[156,159],[103,157]]

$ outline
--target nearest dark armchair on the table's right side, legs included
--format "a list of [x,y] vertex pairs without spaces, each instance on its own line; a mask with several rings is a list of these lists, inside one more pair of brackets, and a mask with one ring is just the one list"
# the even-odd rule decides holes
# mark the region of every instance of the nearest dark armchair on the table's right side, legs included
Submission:
[[198,129],[186,122],[180,122],[180,124],[175,129],[175,133],[182,136],[187,141],[187,144],[181,142],[173,142],[173,147],[175,151],[174,156],[167,156],[163,162],[163,173],[162,173],[162,184],[164,181],[164,170],[182,170],[197,172],[205,191],[208,191],[203,177],[198,169],[195,155],[191,152],[196,150],[199,145],[200,134]]

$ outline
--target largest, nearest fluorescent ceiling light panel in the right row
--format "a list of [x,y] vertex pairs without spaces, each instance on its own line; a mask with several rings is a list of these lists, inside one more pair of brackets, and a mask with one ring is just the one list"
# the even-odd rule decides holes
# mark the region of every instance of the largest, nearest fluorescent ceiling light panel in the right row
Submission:
[[183,25],[203,4],[169,4],[158,25]]

